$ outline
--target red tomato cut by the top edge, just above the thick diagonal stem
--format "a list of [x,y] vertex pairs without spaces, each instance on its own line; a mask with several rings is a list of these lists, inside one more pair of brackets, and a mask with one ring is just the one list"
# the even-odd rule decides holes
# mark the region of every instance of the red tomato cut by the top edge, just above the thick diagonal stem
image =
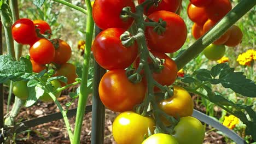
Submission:
[[205,7],[207,17],[215,22],[222,19],[231,9],[230,0],[213,0],[210,5]]

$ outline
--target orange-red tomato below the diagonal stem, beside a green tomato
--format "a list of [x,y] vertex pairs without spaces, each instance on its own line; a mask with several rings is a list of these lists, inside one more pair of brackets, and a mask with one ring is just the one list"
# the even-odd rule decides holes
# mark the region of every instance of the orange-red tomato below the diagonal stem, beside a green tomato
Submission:
[[241,29],[235,25],[233,25],[230,28],[230,36],[229,39],[226,41],[225,45],[226,46],[236,46],[241,43],[242,38],[243,38],[243,33]]

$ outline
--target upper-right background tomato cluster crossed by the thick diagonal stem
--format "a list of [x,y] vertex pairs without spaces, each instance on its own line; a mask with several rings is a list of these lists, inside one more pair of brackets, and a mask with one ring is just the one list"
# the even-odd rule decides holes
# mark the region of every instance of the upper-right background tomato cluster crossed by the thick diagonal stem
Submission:
[[[216,23],[232,9],[230,0],[190,0],[187,13],[194,22],[191,29],[195,39],[207,33]],[[225,54],[226,46],[236,46],[241,43],[243,33],[235,25],[228,29],[213,44],[203,51],[206,58],[217,61]]]

